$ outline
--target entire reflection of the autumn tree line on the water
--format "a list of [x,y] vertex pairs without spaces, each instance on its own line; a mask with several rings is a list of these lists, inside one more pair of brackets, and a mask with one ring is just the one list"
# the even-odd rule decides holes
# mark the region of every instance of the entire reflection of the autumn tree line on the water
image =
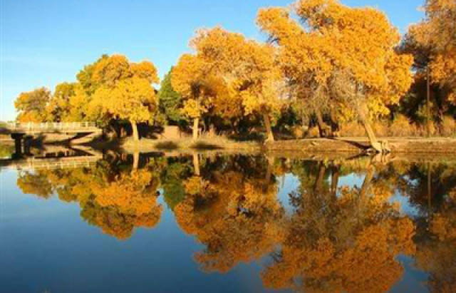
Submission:
[[[286,175],[299,179],[291,212],[277,197]],[[16,184],[77,202],[118,240],[156,227],[168,209],[203,245],[193,255],[202,271],[261,260],[266,289],[385,292],[405,274],[402,255],[430,291],[456,287],[456,163],[109,153],[81,168],[21,170]]]

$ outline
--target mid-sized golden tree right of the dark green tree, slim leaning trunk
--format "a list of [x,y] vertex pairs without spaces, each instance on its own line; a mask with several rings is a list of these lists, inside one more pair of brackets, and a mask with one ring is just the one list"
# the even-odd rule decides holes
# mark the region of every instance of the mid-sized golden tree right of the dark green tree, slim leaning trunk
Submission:
[[270,116],[281,98],[274,47],[219,27],[199,30],[191,44],[195,55],[182,56],[173,76],[177,91],[190,97],[186,112],[199,118],[212,107],[224,118],[261,115],[268,139],[274,140]]

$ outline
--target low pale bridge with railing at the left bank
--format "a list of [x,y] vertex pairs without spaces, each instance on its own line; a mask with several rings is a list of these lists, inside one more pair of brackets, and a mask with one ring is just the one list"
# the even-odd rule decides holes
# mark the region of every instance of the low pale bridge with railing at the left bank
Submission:
[[74,135],[95,135],[103,133],[101,128],[93,122],[42,122],[42,123],[6,123],[0,126],[0,134],[11,135],[14,139],[16,154],[28,153],[26,151],[28,142],[33,135],[43,134],[74,134]]

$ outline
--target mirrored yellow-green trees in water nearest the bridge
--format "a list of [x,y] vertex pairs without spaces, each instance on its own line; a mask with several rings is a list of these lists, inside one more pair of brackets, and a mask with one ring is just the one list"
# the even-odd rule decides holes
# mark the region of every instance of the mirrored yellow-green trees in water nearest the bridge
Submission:
[[130,167],[102,160],[91,168],[21,173],[17,184],[24,193],[48,198],[56,192],[63,201],[78,202],[83,219],[125,240],[135,227],[155,227],[162,213],[157,204],[161,159],[141,170]]

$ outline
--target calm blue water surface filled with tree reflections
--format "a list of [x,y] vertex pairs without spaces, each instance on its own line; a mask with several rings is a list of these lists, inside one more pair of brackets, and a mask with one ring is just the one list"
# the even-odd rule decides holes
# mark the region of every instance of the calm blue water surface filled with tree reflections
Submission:
[[110,153],[57,167],[0,170],[1,292],[456,288],[456,163]]

